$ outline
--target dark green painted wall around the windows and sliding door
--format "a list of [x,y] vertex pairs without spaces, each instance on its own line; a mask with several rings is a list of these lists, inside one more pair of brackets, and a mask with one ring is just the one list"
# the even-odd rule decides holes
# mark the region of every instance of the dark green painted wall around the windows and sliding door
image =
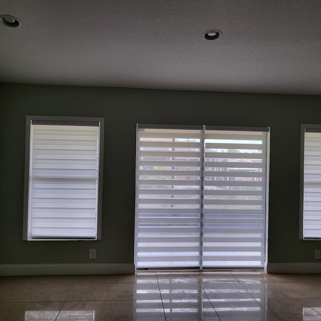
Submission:
[[[22,240],[26,115],[105,118],[100,241]],[[321,123],[321,96],[3,83],[0,120],[0,264],[133,262],[136,123],[270,126],[269,262],[321,248],[298,239],[300,124]]]

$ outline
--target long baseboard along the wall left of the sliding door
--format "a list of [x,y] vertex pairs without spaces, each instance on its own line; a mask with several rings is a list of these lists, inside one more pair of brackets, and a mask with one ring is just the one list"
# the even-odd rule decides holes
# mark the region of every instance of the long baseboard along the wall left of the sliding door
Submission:
[[3,264],[0,275],[134,274],[134,263],[119,264]]

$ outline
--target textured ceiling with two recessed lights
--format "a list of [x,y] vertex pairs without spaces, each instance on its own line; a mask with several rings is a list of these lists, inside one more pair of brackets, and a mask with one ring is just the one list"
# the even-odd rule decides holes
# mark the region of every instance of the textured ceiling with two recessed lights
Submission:
[[22,25],[0,25],[0,82],[321,94],[320,0],[1,0],[4,14]]

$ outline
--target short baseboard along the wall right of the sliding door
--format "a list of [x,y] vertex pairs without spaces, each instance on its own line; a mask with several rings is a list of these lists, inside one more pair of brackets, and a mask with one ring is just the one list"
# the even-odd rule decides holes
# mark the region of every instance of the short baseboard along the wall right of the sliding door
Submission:
[[321,263],[265,263],[267,273],[321,273]]

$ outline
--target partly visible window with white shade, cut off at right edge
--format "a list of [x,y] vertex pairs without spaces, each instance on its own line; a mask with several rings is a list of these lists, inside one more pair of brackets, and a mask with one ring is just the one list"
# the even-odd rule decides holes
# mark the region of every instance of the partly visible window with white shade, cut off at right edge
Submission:
[[321,239],[321,125],[301,125],[300,239]]

